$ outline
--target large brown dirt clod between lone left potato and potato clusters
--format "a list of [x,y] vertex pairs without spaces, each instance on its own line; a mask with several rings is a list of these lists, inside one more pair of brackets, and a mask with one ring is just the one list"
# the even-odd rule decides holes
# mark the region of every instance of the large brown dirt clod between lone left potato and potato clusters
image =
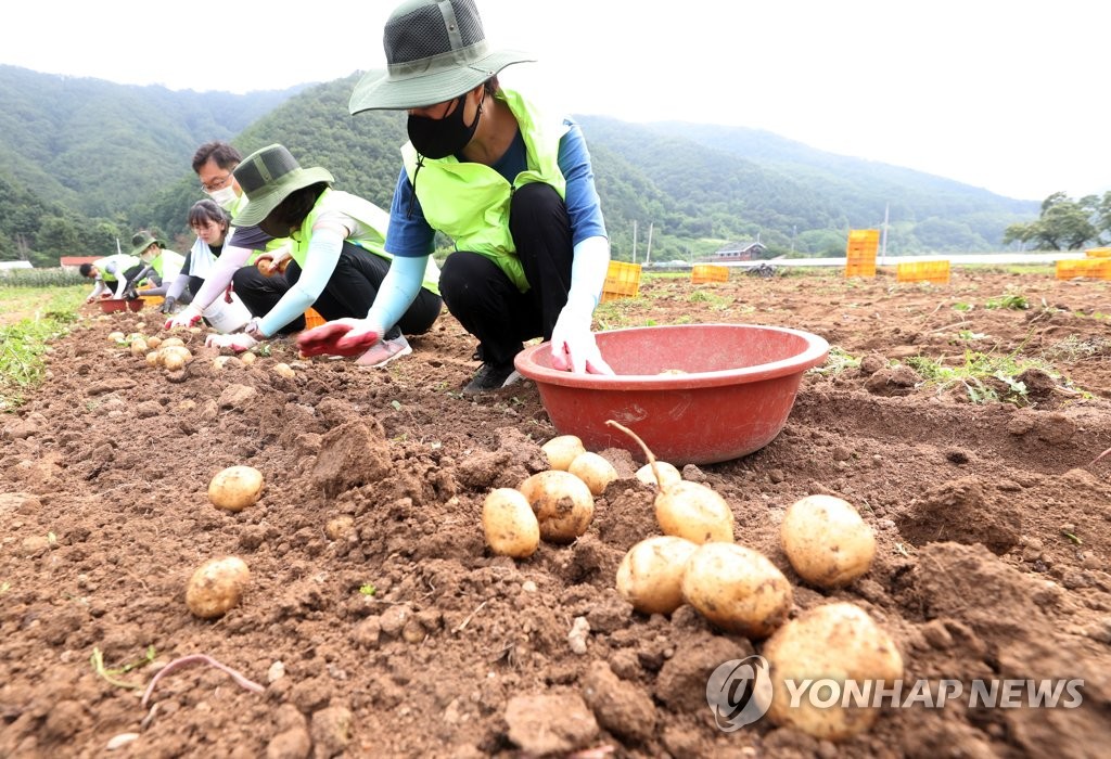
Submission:
[[378,422],[349,422],[320,439],[312,482],[333,498],[389,474],[390,448]]

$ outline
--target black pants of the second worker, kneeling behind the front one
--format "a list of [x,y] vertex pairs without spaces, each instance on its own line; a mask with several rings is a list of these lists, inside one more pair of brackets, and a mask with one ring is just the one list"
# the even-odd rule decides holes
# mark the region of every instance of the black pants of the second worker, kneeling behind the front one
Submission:
[[[378,289],[389,269],[390,262],[386,259],[344,241],[336,270],[312,307],[329,322],[346,317],[363,318],[378,296]],[[252,271],[258,277],[250,274]],[[251,314],[263,316],[300,279],[301,267],[296,261],[290,261],[284,274],[262,276],[253,266],[244,266],[236,272],[232,282],[236,293]],[[439,295],[421,287],[416,300],[384,336],[424,334],[439,317],[442,305]],[[304,316],[299,315],[279,332],[290,334],[303,328]]]

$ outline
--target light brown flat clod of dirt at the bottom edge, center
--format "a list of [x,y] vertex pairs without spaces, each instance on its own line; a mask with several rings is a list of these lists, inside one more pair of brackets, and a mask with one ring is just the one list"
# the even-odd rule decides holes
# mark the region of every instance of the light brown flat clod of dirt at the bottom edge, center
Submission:
[[578,694],[514,696],[506,706],[509,739],[529,755],[564,755],[598,737],[598,720]]

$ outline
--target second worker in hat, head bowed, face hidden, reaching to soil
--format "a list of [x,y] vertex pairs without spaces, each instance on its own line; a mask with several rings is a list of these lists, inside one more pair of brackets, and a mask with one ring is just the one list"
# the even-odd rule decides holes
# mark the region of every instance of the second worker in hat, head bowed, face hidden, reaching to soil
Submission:
[[[326,320],[362,316],[373,304],[390,267],[384,251],[389,216],[370,201],[331,188],[332,175],[316,166],[302,169],[279,144],[248,155],[236,166],[236,181],[248,198],[232,224],[258,225],[273,237],[289,237],[290,261],[283,274],[262,286],[232,279],[234,291],[256,314],[243,334],[212,335],[208,343],[244,351],[291,324],[303,326],[308,307]],[[423,334],[440,315],[440,271],[431,259],[420,272],[418,293],[397,314],[356,363],[384,366],[412,353],[406,334]]]

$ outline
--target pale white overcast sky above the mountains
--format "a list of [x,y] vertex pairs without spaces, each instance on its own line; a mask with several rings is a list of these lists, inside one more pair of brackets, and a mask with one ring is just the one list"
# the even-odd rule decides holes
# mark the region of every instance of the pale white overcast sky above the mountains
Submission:
[[[763,129],[1025,200],[1111,190],[1101,0],[478,2],[491,42],[540,59],[503,83],[571,113]],[[283,89],[383,67],[396,4],[39,0],[9,16],[0,63]]]

